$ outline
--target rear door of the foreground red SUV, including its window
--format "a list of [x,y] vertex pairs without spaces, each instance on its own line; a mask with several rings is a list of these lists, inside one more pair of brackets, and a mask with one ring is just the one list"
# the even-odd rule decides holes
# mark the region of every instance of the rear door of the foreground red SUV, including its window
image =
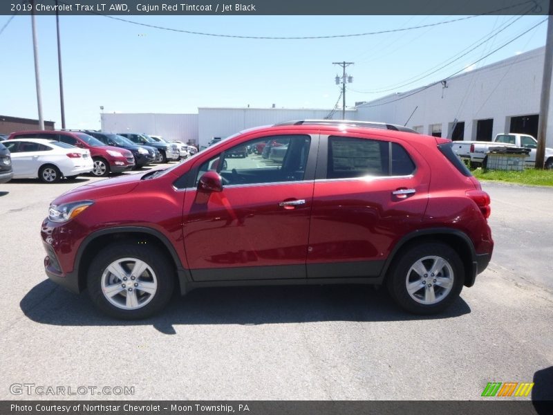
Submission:
[[386,136],[321,136],[308,278],[377,277],[395,242],[420,225],[429,166]]

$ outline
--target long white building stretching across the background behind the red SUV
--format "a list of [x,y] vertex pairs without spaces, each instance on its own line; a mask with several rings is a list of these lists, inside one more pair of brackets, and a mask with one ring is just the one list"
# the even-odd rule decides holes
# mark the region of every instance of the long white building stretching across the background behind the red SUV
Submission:
[[[346,110],[346,118],[406,124],[421,133],[453,140],[491,140],[497,133],[536,137],[545,48],[404,93]],[[327,118],[329,109],[198,108],[197,114],[102,113],[102,131],[138,132],[200,146],[214,137],[290,120]],[[341,118],[335,111],[332,118]],[[550,105],[553,124],[553,105]],[[547,130],[553,147],[553,128]]]

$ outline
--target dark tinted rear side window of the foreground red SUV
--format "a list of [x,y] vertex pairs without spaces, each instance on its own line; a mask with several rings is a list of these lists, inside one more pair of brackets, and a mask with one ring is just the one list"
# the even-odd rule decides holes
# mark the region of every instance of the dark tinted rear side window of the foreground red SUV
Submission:
[[408,176],[415,163],[395,142],[364,138],[330,137],[327,178]]

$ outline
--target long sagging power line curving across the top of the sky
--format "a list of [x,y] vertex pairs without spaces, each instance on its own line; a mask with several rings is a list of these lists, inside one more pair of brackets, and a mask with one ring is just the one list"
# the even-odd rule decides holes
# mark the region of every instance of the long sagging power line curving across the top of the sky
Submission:
[[[60,1],[60,3],[63,3]],[[168,30],[170,32],[176,32],[176,33],[186,33],[188,35],[200,35],[200,36],[212,36],[212,37],[228,37],[233,39],[270,39],[270,40],[308,40],[308,39],[335,39],[340,37],[360,37],[360,36],[371,36],[371,35],[383,35],[386,33],[395,33],[395,32],[404,32],[406,30],[415,30],[415,29],[421,29],[421,28],[429,28],[433,26],[440,26],[443,24],[449,24],[456,21],[463,21],[468,19],[474,19],[474,17],[480,17],[484,15],[493,15],[499,12],[503,12],[508,9],[512,8],[518,8],[518,6],[523,6],[526,4],[533,4],[532,10],[538,10],[538,5],[533,0],[527,0],[523,1],[521,3],[514,4],[512,6],[506,6],[504,8],[499,8],[497,10],[491,10],[489,12],[481,13],[480,15],[472,15],[472,16],[466,16],[466,17],[459,17],[458,19],[451,19],[446,21],[439,21],[437,23],[431,23],[431,24],[424,24],[420,26],[411,26],[409,28],[396,28],[396,29],[388,29],[388,30],[378,30],[375,32],[366,32],[366,33],[352,33],[348,35],[325,35],[325,36],[245,36],[245,35],[225,35],[222,33],[207,33],[207,32],[196,32],[194,30],[184,30],[184,29],[177,29],[177,28],[168,28],[166,26],[158,26],[153,24],[147,24],[147,23],[141,23],[139,21],[132,21],[127,19],[122,19],[121,17],[115,17],[115,16],[109,16],[109,15],[103,15],[99,12],[89,12],[93,15],[99,15],[102,17],[107,17],[108,19],[123,21],[128,24],[135,24],[137,26],[144,26],[147,28],[153,28],[153,29],[159,29],[159,30]]]

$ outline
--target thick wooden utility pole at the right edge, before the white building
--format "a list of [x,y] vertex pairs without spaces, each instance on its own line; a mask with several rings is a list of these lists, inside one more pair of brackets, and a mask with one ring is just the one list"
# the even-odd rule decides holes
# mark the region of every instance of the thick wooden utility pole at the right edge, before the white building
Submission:
[[541,82],[540,116],[538,122],[538,148],[536,149],[536,169],[543,169],[545,163],[545,141],[547,138],[547,116],[551,93],[551,71],[553,69],[553,0],[549,0],[547,37],[543,61],[543,81]]

